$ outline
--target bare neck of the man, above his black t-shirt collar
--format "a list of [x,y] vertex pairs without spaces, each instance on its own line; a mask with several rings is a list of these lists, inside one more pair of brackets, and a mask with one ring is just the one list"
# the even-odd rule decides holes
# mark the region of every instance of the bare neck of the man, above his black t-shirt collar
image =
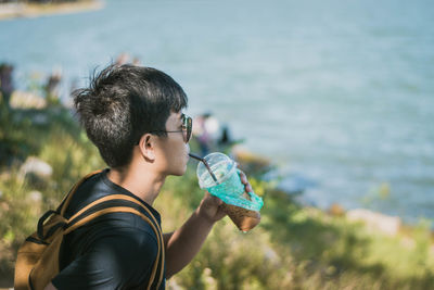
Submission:
[[166,176],[140,171],[138,168],[111,168],[107,173],[107,178],[112,182],[127,189],[149,205],[154,203],[154,200],[158,196],[159,190],[166,180]]

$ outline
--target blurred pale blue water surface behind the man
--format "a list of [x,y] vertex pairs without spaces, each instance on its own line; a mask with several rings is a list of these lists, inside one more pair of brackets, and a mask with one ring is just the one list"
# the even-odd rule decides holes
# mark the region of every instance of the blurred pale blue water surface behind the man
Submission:
[[56,66],[85,84],[128,52],[178,80],[190,114],[210,110],[312,180],[308,201],[412,222],[434,218],[433,15],[420,0],[112,0],[0,22],[0,61],[15,64],[17,86]]

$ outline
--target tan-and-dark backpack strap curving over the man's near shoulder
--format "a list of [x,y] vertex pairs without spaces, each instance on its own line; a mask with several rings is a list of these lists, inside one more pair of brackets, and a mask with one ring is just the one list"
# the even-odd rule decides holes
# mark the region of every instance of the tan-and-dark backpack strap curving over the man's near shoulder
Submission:
[[[99,210],[94,213],[91,213],[88,216],[85,216],[81,218],[81,215],[84,215],[88,210],[97,206],[98,204],[101,204],[103,202],[107,202],[107,201],[113,201],[113,200],[122,200],[122,201],[129,201],[132,203],[136,203],[137,205],[139,205],[141,209],[143,209],[152,218],[152,220],[144,215],[143,213],[141,213],[139,210],[132,207],[132,206],[107,206],[105,209]],[[78,211],[76,214],[74,214],[68,220],[67,220],[67,225],[72,224],[69,227],[66,227],[64,235],[69,234],[71,231],[84,226],[85,224],[89,223],[90,220],[105,215],[105,214],[110,214],[110,213],[132,213],[136,214],[138,216],[140,216],[143,220],[145,220],[148,224],[150,224],[150,226],[152,227],[152,229],[155,232],[155,236],[157,237],[157,243],[158,243],[158,251],[157,251],[157,255],[155,259],[155,263],[154,266],[152,268],[152,273],[151,273],[151,277],[150,277],[150,283],[146,289],[151,289],[151,286],[153,283],[153,281],[155,279],[158,279],[157,282],[157,289],[159,288],[159,285],[163,281],[163,273],[164,273],[164,263],[165,263],[165,251],[164,251],[164,241],[163,241],[163,234],[162,234],[162,229],[158,225],[158,223],[156,222],[155,216],[151,213],[151,211],[144,205],[142,204],[140,201],[136,200],[132,197],[128,197],[125,194],[112,194],[112,196],[107,196],[104,198],[101,198],[99,200],[95,200],[94,202],[88,204],[87,206],[85,206],[84,209],[81,209],[80,211]],[[159,275],[158,277],[155,277],[156,275],[156,270],[158,267],[158,261],[161,261],[161,270],[159,270]]]

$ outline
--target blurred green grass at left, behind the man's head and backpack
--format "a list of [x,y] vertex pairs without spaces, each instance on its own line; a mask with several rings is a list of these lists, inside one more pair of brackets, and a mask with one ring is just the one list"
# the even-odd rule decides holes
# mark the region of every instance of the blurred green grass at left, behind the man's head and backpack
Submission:
[[[0,110],[0,280],[11,280],[17,248],[35,231],[39,216],[103,163],[65,109]],[[47,122],[34,124],[36,115]],[[29,156],[50,164],[51,178],[23,176],[20,166]]]

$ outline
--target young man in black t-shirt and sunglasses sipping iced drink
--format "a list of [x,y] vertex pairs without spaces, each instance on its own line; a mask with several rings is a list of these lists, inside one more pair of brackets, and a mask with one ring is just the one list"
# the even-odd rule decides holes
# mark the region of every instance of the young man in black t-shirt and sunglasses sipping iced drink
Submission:
[[[189,160],[192,121],[182,113],[187,96],[168,75],[154,68],[112,65],[75,96],[89,139],[110,166],[81,184],[66,211],[73,216],[91,202],[124,194],[152,207],[168,175],[183,175]],[[251,191],[245,176],[242,180]],[[187,192],[188,193],[188,192]],[[165,234],[163,281],[199,252],[214,224],[225,216],[221,201],[205,193],[191,217]],[[46,289],[143,289],[152,279],[158,237],[132,213],[98,217],[65,236],[61,272]]]

